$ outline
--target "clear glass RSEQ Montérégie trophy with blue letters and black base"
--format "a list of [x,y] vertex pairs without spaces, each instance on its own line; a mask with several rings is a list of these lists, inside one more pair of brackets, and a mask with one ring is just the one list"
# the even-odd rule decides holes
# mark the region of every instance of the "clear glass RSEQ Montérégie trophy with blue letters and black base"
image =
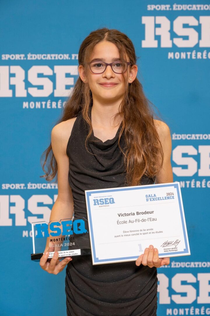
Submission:
[[[59,259],[65,257],[91,254],[88,220],[82,218],[67,218],[49,223],[32,223],[33,253],[31,260],[39,261],[43,252],[48,249],[49,242],[53,243],[54,250],[49,252],[48,260],[55,251]],[[52,245],[52,244],[51,244]]]

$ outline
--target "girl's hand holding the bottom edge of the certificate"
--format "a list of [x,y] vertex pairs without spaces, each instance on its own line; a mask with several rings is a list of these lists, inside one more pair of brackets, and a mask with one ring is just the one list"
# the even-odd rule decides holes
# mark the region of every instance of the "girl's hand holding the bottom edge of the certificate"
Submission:
[[162,265],[168,265],[170,258],[159,258],[157,248],[152,245],[145,249],[145,252],[139,256],[136,260],[136,265],[148,265],[150,268],[160,268]]

